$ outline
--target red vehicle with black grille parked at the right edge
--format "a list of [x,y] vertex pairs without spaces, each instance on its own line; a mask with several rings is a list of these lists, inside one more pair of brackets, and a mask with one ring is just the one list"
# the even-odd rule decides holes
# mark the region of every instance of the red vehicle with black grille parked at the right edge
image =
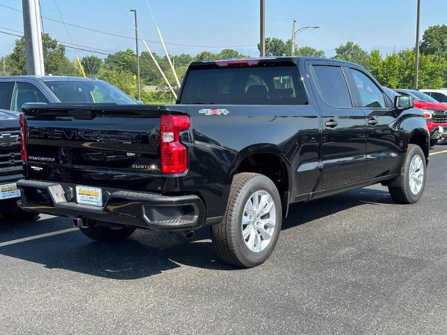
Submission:
[[411,96],[414,107],[424,111],[430,131],[430,147],[447,137],[447,103],[439,103],[431,96],[416,89],[395,89],[401,96]]

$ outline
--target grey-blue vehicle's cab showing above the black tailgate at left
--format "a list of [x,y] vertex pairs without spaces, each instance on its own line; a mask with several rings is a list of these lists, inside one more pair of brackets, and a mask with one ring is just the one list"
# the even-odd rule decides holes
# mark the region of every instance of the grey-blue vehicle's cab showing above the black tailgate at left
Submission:
[[0,77],[0,108],[21,112],[24,103],[137,104],[133,98],[103,80],[58,75]]

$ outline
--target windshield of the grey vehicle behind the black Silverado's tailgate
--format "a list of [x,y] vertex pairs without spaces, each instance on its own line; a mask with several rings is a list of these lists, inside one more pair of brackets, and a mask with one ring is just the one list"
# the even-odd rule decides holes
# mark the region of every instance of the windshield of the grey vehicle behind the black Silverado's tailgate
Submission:
[[61,103],[136,105],[130,96],[101,80],[45,80]]

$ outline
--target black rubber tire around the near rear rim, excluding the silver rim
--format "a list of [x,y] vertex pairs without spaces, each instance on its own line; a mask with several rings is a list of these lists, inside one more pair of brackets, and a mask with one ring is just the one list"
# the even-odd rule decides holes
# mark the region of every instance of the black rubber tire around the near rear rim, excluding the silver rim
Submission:
[[[242,236],[242,215],[245,204],[256,191],[265,191],[275,205],[276,222],[268,246],[262,251],[250,251]],[[236,267],[256,267],[267,260],[276,246],[281,231],[281,199],[273,181],[263,174],[236,174],[231,184],[225,218],[212,226],[212,242],[219,258]]]

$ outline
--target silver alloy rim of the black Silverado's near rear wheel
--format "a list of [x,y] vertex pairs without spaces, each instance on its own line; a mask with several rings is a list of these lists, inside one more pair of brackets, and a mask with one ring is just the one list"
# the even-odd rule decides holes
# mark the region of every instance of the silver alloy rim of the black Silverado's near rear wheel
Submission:
[[242,238],[249,251],[260,253],[270,244],[277,223],[276,207],[269,193],[256,191],[242,214]]

